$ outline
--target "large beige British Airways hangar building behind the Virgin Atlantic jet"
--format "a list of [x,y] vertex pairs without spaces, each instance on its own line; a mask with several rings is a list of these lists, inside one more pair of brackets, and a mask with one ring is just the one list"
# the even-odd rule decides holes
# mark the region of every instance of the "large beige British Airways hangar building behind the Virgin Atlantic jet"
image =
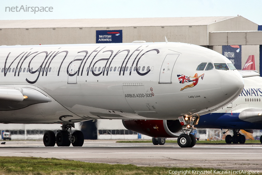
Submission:
[[[247,57],[254,55],[256,70],[262,71],[262,65],[260,68],[260,57],[262,59],[260,28],[262,26],[242,16],[0,20],[0,47],[1,45],[164,42],[164,37],[167,37],[169,42],[196,44],[215,50],[228,57],[237,69],[242,69]],[[125,135],[126,131],[123,126],[120,126],[121,122],[116,121],[116,123],[118,123],[116,126],[109,127],[103,123],[103,120],[99,120],[89,122],[88,125],[95,125],[97,131],[94,131],[93,135],[99,136],[104,133]],[[56,124],[38,126],[39,130],[58,129]],[[20,124],[0,124],[0,130],[17,128],[19,131],[13,133],[23,134],[28,130],[31,133],[43,133],[36,131],[35,125],[24,127]],[[26,132],[23,128],[26,128],[24,129]],[[109,130],[110,132],[107,132]]]

